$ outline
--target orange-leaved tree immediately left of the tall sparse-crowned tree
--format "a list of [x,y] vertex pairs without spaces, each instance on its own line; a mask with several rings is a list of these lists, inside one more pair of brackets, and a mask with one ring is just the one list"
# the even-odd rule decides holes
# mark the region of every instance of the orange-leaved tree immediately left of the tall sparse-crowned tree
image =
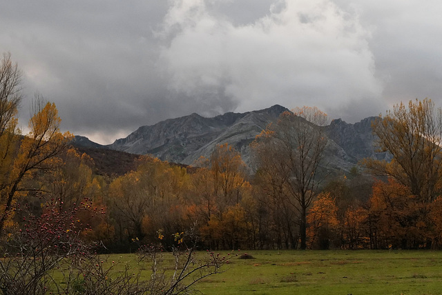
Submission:
[[210,159],[202,157],[202,166],[192,175],[195,206],[200,230],[211,247],[238,247],[244,229],[242,199],[251,192],[246,181],[246,166],[239,152],[227,143],[217,145]]

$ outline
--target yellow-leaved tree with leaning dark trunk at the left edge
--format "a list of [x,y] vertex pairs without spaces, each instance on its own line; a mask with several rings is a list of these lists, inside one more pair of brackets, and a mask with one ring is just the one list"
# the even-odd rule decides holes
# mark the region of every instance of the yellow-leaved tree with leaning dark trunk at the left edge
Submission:
[[[10,54],[0,61],[0,234],[11,218],[19,194],[39,190],[32,174],[50,172],[59,165],[58,155],[70,141],[70,134],[59,132],[61,119],[53,103],[44,103],[36,95],[30,133],[21,137],[17,128],[17,112],[22,99],[21,71],[12,63]],[[32,180],[32,181],[31,181]]]

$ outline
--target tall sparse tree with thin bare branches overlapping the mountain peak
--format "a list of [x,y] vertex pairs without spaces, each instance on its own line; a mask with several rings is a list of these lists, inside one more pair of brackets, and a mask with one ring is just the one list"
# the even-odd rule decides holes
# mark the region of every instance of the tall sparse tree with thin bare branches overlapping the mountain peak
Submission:
[[253,143],[258,171],[273,174],[289,201],[300,214],[300,248],[307,247],[307,209],[316,195],[318,167],[323,157],[327,136],[322,126],[327,115],[318,108],[296,108],[284,112],[275,124],[261,132]]

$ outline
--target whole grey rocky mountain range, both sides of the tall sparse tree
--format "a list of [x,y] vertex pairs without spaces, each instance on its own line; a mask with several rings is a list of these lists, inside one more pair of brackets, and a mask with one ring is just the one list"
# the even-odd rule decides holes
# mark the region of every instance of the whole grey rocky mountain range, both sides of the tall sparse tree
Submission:
[[[209,157],[216,145],[229,143],[240,152],[247,165],[251,164],[250,143],[269,123],[288,111],[281,105],[253,112],[227,112],[213,118],[190,114],[138,128],[124,139],[111,145],[98,145],[87,138],[76,136],[77,145],[88,148],[107,148],[131,154],[152,154],[164,161],[191,165],[200,156]],[[358,123],[333,120],[325,126],[329,137],[324,153],[323,168],[328,172],[348,172],[366,157],[391,159],[390,154],[376,152],[376,137],[372,134],[369,117]]]

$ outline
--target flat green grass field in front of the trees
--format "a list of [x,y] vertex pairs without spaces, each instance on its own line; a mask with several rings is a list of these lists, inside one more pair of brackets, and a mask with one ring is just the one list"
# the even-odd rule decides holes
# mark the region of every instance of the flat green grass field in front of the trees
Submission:
[[[247,253],[254,259],[234,256],[222,274],[205,278],[196,289],[202,294],[442,294],[442,252]],[[133,257],[124,254],[108,259],[133,261]],[[143,273],[148,276],[148,268]]]

